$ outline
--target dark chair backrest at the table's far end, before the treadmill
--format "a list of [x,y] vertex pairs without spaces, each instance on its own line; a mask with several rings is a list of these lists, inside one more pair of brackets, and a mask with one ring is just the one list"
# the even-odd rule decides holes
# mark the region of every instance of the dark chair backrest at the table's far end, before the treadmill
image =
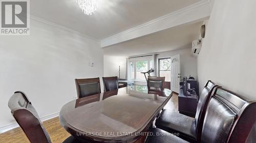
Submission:
[[148,76],[147,89],[148,93],[157,94],[164,90],[165,77]]

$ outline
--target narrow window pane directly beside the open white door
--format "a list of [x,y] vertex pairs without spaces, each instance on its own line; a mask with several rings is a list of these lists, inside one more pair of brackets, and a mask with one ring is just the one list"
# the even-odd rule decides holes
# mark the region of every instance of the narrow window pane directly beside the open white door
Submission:
[[170,81],[170,58],[163,58],[158,60],[159,76],[165,77],[165,81]]

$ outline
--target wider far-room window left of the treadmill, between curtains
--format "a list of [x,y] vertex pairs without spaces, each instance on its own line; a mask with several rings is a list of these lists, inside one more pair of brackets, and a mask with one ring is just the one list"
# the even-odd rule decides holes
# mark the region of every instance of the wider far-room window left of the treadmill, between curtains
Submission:
[[131,61],[130,66],[130,78],[132,80],[146,81],[144,74],[141,72],[146,72],[153,68],[153,61]]

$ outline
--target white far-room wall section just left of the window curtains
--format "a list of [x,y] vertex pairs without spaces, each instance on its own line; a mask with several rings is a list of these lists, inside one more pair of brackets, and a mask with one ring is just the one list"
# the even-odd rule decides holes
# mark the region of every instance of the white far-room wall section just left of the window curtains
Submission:
[[124,56],[104,55],[104,76],[126,78],[126,58]]

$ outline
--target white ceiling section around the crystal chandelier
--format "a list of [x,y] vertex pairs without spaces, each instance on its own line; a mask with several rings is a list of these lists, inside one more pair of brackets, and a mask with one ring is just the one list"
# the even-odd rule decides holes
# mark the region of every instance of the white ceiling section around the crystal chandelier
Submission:
[[76,0],[30,1],[30,13],[41,19],[103,39],[174,12],[200,0],[99,0],[94,15],[84,15]]

